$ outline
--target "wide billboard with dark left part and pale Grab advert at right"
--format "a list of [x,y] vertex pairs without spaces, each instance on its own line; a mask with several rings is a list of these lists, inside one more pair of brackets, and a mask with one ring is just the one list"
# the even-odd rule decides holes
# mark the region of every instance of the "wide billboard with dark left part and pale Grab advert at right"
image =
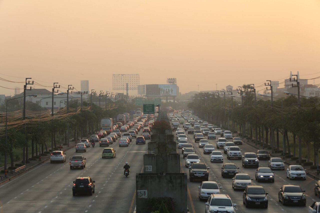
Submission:
[[146,95],[175,96],[177,95],[177,85],[176,84],[147,84]]

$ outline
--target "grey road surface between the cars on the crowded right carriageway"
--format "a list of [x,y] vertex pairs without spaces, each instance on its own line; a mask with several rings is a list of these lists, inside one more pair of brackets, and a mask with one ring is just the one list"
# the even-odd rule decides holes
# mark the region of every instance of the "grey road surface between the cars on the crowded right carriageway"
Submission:
[[[180,128],[182,128],[182,125],[180,125]],[[175,134],[175,133],[174,133]],[[218,139],[219,135],[217,135]],[[205,138],[207,138],[205,136]],[[216,140],[209,140],[210,144],[213,144],[216,147]],[[230,141],[230,140],[229,140]],[[232,140],[231,140],[232,141]],[[237,212],[256,212],[262,211],[262,212],[308,212],[308,206],[311,205],[315,201],[320,201],[319,197],[316,197],[314,194],[314,186],[316,184],[316,181],[307,178],[307,180],[289,180],[286,178],[286,171],[283,170],[275,170],[275,182],[257,182],[255,180],[255,171],[256,168],[244,168],[242,167],[241,160],[237,159],[231,159],[228,160],[226,155],[224,155],[224,163],[234,163],[239,167],[239,173],[247,173],[250,175],[251,178],[253,178],[254,185],[263,186],[265,191],[268,192],[268,209],[263,208],[246,208],[243,204],[243,191],[234,191],[232,188],[232,179],[231,178],[222,178],[221,177],[221,166],[223,163],[211,163],[210,162],[210,155],[203,153],[203,148],[199,148],[199,143],[194,142],[193,134],[188,135],[188,142],[192,143],[194,145],[194,149],[196,151],[196,154],[199,155],[201,161],[206,163],[210,167],[210,175],[209,175],[209,181],[216,181],[219,186],[222,186],[222,189],[220,189],[220,193],[228,194],[234,203],[237,204],[236,211]],[[240,149],[242,150],[242,154],[245,152],[256,152],[257,150],[250,147],[247,144],[239,145]],[[223,153],[223,149],[216,149],[220,150]],[[178,153],[181,154],[181,149],[178,150]],[[189,174],[189,169],[186,168],[185,165],[185,159],[182,158],[182,155],[180,155],[180,162],[182,164],[182,172],[186,172]],[[268,161],[267,160],[261,160],[259,163],[260,167],[268,167]],[[285,168],[285,170],[287,167]],[[194,181],[190,182],[188,178],[188,192],[190,193],[188,197],[191,196],[191,200],[188,200],[188,208],[190,212],[204,212],[205,211],[205,201],[199,201],[198,198],[198,186],[200,186],[201,181]],[[278,201],[278,192],[279,188],[285,184],[296,184],[301,186],[303,190],[306,190],[307,194],[307,205],[304,206],[283,206]]]

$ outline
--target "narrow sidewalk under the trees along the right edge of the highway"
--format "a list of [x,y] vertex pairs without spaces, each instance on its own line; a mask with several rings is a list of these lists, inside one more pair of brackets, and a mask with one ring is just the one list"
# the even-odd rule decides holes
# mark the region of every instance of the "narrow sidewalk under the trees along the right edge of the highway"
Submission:
[[[244,143],[248,144],[249,146],[251,146],[253,148],[256,148],[257,150],[258,149],[268,150],[270,152],[270,156],[271,157],[280,157],[280,158],[282,158],[285,161],[284,164],[286,164],[286,165],[298,165],[299,164],[299,163],[296,162],[296,160],[291,160],[291,157],[290,158],[284,158],[283,153],[271,153],[271,149],[268,149],[267,147],[262,148],[261,145],[257,145],[256,146],[255,142],[253,142],[253,141],[250,142],[250,141],[248,141],[246,139],[242,139],[242,141]],[[302,164],[302,166],[303,166],[303,164]],[[305,170],[307,170],[306,173],[310,178],[313,178],[315,180],[319,180],[320,179],[320,175],[317,175],[317,170],[316,169],[310,169],[310,166],[303,166],[303,168]]]

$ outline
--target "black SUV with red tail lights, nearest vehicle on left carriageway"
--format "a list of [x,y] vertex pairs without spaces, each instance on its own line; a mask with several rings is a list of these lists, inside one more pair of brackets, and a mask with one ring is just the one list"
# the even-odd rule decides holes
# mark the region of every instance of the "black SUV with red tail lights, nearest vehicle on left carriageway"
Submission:
[[76,194],[90,194],[94,193],[94,186],[96,181],[92,180],[90,177],[78,177],[73,181],[72,195]]

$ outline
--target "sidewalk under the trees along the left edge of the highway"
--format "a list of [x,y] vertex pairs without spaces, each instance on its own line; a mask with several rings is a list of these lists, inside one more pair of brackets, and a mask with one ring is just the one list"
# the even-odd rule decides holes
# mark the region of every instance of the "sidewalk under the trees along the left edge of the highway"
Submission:
[[[76,141],[71,141],[69,142],[69,147],[66,146],[63,146],[63,148],[61,149],[62,151],[67,151],[69,149],[72,149],[76,146]],[[31,158],[31,155],[28,156]],[[40,164],[43,164],[45,162],[47,162],[48,160],[50,160],[50,154],[46,154],[46,156],[41,156],[41,161],[39,161],[39,158],[37,158],[37,160],[35,161],[30,161],[30,163],[27,163],[26,164],[26,168],[25,169],[22,169],[16,173],[11,173],[11,170],[7,170],[7,178],[5,178],[4,176],[4,173],[0,173],[0,186],[4,183],[7,183],[9,182],[10,180],[12,179],[15,179],[17,178],[18,176],[22,175],[23,173],[25,173],[26,171],[29,171],[33,168],[35,168],[36,166],[40,165]],[[21,161],[16,161],[14,162],[14,165],[15,164],[21,164]],[[3,170],[4,167],[1,167],[0,170]]]

